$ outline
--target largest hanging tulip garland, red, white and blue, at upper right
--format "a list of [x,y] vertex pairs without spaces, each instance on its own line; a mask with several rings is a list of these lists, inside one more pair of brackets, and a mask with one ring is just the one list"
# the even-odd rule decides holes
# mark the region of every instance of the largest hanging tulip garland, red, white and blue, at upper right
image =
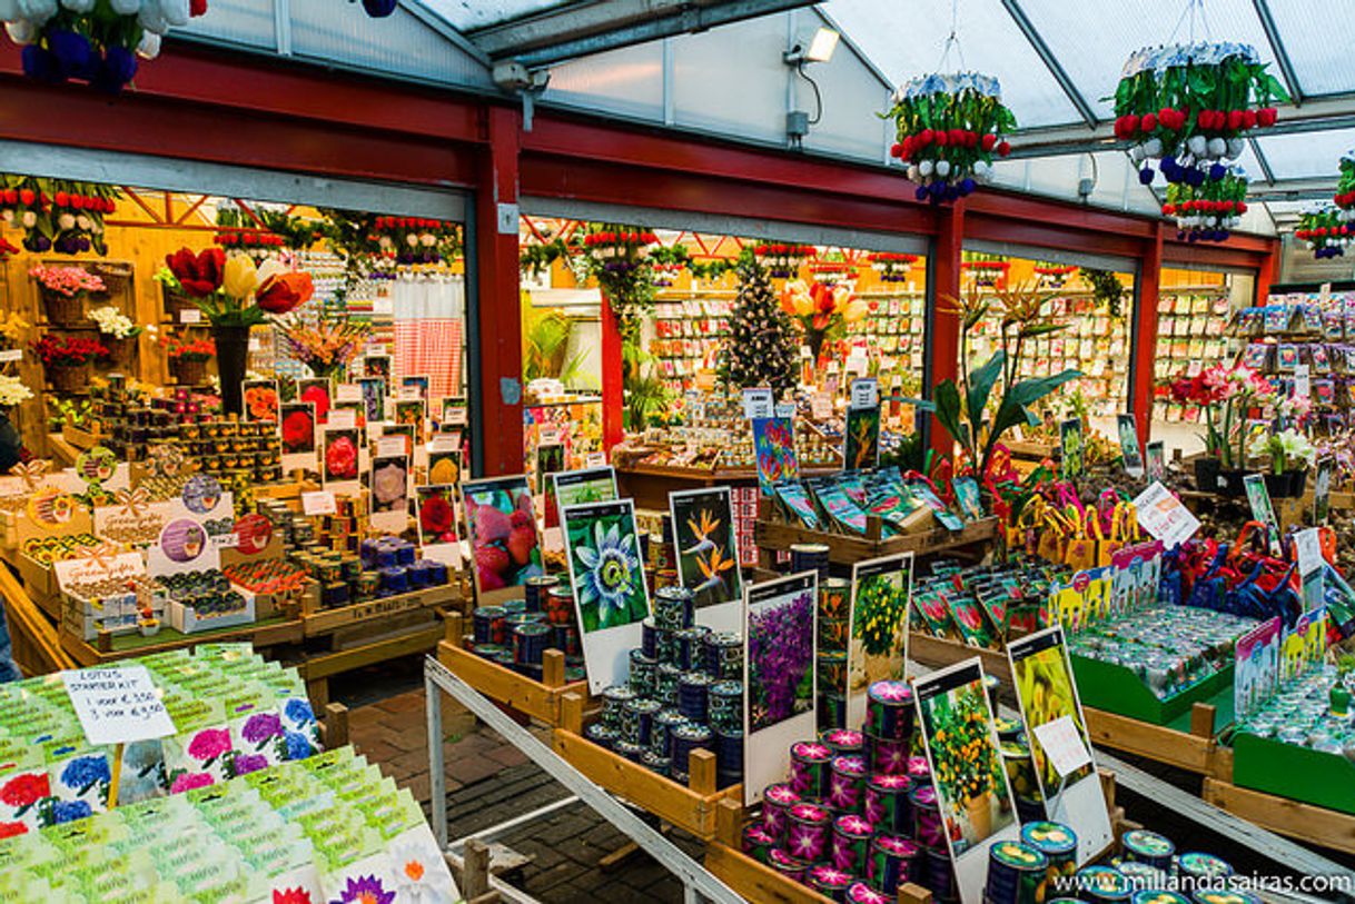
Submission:
[[[1243,43],[1144,47],[1129,57],[1115,88],[1115,137],[1135,164],[1161,160],[1167,182],[1199,187],[1228,175],[1253,129],[1275,125],[1289,94]],[[1255,107],[1255,108],[1253,108]],[[1152,165],[1138,173],[1153,182]]]

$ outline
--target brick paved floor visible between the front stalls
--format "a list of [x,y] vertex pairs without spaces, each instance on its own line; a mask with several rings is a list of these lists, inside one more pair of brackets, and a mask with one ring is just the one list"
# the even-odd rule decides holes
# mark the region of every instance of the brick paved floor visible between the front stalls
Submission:
[[[369,697],[371,699],[371,697]],[[356,702],[356,701],[355,701]],[[431,812],[427,716],[423,690],[366,702],[351,710],[354,747],[397,785],[408,787]],[[515,747],[455,703],[443,703],[443,755],[447,766],[447,831],[465,838],[558,801],[569,792],[537,768]],[[539,731],[549,740],[545,729]],[[625,836],[585,804],[576,802],[493,840],[531,858],[520,876],[508,880],[547,903],[680,901],[682,885],[659,863],[633,854],[603,871],[599,861],[625,843]],[[701,846],[673,836],[688,854]]]

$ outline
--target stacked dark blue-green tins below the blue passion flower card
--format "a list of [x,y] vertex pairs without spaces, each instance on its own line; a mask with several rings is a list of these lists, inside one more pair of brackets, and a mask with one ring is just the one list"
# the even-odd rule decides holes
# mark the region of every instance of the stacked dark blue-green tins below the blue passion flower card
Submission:
[[641,646],[630,651],[626,684],[603,691],[602,717],[585,729],[593,743],[686,783],[692,751],[715,755],[717,783],[744,775],[744,660],[734,634],[695,623],[682,587],[654,591]]

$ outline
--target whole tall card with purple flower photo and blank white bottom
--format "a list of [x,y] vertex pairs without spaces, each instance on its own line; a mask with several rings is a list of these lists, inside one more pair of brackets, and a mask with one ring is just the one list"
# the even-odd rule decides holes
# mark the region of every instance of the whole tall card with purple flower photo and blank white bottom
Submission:
[[744,804],[790,768],[790,745],[818,725],[818,572],[744,587]]

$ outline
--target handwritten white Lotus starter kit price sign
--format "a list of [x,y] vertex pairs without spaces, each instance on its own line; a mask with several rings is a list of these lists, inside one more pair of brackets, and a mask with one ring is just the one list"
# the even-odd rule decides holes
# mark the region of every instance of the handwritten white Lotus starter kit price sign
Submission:
[[91,744],[127,744],[175,733],[173,720],[145,665],[61,672]]

